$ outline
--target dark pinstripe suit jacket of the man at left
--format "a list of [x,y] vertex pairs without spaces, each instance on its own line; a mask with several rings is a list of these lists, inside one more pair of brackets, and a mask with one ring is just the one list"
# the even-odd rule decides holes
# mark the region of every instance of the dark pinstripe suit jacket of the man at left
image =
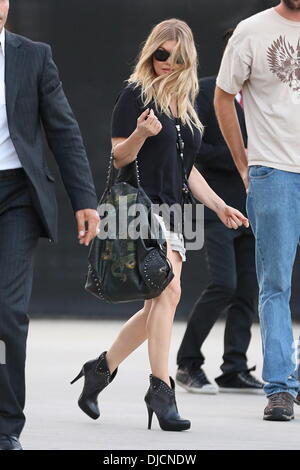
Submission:
[[97,196],[50,46],[6,31],[5,85],[8,128],[44,227],[42,236],[57,241],[55,180],[47,167],[42,128],[74,212],[95,209]]

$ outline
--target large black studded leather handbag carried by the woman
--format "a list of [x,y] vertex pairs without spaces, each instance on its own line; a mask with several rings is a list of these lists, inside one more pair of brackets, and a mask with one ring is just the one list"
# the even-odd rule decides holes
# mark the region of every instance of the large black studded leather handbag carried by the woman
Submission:
[[[100,230],[89,251],[85,289],[112,303],[152,299],[174,277],[164,232],[155,222],[151,200],[140,185],[137,159],[121,168],[116,178],[114,170],[112,154],[98,205]],[[136,215],[131,209],[137,204],[143,212],[143,236],[139,237],[133,236],[136,232],[130,228]]]

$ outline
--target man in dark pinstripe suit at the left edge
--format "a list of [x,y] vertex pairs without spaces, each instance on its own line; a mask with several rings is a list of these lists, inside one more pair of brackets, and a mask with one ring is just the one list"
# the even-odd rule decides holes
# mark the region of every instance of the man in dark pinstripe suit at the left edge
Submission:
[[95,237],[99,217],[82,137],[51,49],[5,31],[8,10],[9,0],[1,0],[0,450],[19,450],[33,257],[39,237],[57,240],[54,178],[43,154],[42,127],[72,203],[80,244]]

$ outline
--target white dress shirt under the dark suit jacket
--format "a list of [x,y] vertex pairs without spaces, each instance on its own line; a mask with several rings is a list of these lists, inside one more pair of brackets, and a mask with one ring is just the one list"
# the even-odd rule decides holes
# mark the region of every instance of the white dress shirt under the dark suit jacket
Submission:
[[0,34],[0,171],[21,168],[22,164],[10,138],[5,98],[5,30]]

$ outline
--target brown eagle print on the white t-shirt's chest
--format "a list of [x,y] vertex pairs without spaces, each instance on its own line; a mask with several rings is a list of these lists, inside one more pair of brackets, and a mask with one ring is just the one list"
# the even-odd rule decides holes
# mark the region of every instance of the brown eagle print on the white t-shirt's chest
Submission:
[[293,103],[300,104],[300,38],[294,47],[280,36],[269,47],[267,56],[271,72],[288,85]]

